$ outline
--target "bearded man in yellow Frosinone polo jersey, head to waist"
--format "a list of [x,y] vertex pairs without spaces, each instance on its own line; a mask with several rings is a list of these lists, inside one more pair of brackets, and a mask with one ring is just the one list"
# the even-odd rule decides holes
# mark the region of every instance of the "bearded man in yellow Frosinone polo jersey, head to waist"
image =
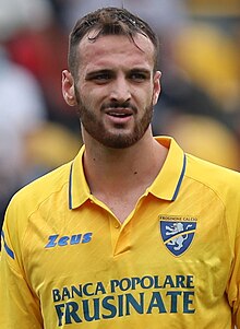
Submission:
[[157,55],[124,9],[73,28],[62,91],[84,146],[8,208],[1,329],[240,328],[240,175],[153,138]]

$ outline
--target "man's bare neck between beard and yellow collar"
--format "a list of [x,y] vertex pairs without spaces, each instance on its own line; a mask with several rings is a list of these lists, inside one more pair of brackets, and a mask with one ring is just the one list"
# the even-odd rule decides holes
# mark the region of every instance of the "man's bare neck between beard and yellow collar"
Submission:
[[[144,191],[156,178],[167,155],[148,130],[134,145],[109,149],[85,138],[84,171],[95,196]],[[116,189],[118,187],[118,189]]]

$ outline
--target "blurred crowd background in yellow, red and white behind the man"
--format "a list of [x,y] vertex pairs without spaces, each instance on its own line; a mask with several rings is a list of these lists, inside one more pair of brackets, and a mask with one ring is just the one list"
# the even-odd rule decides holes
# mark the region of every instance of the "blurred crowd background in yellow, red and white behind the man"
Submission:
[[106,5],[123,5],[159,35],[154,133],[240,171],[239,0],[0,0],[0,224],[16,190],[82,145],[61,71],[75,21]]

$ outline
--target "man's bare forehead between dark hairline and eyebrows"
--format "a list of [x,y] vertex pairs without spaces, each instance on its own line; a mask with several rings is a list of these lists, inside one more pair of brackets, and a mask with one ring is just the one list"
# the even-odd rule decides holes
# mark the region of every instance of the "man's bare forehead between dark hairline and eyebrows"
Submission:
[[136,34],[134,42],[125,35],[100,35],[96,32],[84,36],[79,44],[80,68],[101,66],[144,66],[153,69],[155,49],[148,37]]

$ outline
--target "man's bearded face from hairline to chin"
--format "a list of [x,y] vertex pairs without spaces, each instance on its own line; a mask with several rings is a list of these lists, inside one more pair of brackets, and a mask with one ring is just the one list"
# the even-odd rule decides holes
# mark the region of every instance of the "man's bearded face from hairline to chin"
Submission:
[[106,35],[79,45],[72,93],[83,136],[108,148],[128,148],[144,136],[160,90],[153,44],[141,34],[134,40],[137,47],[127,36]]

